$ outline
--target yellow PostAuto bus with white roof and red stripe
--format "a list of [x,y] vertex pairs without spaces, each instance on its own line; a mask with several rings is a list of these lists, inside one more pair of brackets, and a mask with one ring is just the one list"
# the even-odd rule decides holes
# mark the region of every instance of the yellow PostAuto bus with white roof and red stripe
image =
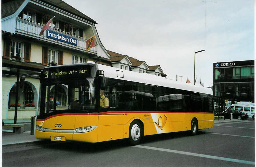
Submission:
[[210,88],[94,62],[46,67],[36,138],[102,142],[211,128]]

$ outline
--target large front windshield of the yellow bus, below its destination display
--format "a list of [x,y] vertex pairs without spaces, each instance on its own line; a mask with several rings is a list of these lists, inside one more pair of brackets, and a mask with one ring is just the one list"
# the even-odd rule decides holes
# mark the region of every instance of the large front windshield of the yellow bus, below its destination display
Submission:
[[94,78],[42,84],[40,115],[88,113],[95,109]]

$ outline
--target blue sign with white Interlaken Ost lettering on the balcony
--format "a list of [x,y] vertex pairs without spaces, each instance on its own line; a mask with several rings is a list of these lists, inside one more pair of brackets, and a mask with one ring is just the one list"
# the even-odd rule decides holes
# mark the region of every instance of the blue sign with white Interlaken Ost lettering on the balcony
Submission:
[[47,30],[46,37],[77,46],[77,39],[55,31]]

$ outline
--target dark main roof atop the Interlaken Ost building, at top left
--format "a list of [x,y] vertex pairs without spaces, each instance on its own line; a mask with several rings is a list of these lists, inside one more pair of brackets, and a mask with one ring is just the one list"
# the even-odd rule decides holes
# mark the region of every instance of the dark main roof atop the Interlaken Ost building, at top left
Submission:
[[[23,4],[24,1],[25,0],[2,0],[2,19],[14,14],[19,9],[19,7]],[[63,11],[71,13],[82,19],[90,21],[94,24],[97,24],[96,21],[94,21],[90,17],[86,16],[85,14],[73,8],[71,5],[65,3],[62,0],[39,0],[39,1],[47,3],[48,5],[51,5],[51,6],[57,7]]]

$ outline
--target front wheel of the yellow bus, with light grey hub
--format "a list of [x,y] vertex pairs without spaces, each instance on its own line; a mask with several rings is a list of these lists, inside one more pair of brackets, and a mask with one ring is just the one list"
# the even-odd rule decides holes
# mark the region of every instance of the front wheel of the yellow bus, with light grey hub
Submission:
[[142,138],[142,126],[139,123],[139,121],[132,121],[129,127],[129,142],[130,145],[134,146],[139,144],[141,138]]

